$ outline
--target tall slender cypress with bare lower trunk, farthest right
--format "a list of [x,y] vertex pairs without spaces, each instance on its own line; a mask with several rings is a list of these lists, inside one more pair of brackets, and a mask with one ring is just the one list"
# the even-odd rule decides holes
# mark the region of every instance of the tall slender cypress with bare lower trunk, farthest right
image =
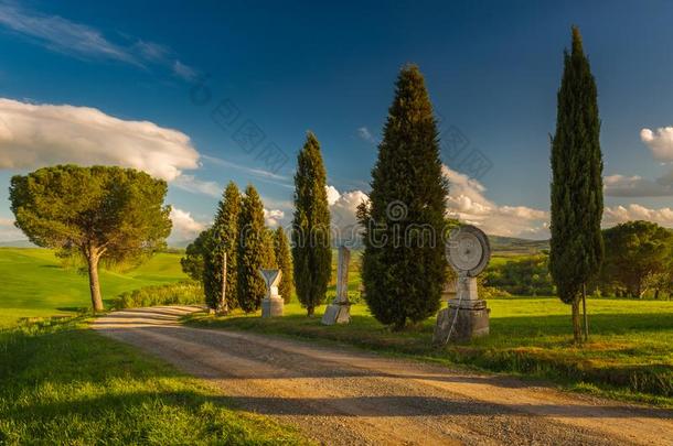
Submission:
[[583,286],[594,280],[603,257],[602,155],[594,76],[573,26],[573,51],[564,53],[556,133],[552,138],[552,250],[549,269],[558,297],[573,309],[575,341],[580,340]]

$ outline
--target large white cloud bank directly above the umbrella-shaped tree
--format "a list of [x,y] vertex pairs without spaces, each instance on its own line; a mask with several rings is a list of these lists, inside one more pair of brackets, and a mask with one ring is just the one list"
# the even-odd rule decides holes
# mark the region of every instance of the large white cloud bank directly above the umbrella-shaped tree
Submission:
[[149,121],[0,98],[0,168],[55,163],[120,165],[172,181],[199,167],[199,152],[186,134]]

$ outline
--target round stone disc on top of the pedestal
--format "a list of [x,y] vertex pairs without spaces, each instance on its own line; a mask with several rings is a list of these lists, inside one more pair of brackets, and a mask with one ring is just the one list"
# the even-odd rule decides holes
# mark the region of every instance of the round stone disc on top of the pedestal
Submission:
[[461,226],[447,243],[447,260],[458,275],[476,278],[489,264],[489,238],[474,226]]

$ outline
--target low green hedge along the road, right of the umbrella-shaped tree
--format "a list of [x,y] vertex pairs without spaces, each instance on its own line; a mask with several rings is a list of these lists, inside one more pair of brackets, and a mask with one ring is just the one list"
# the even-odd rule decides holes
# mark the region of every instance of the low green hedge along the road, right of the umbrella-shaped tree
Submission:
[[197,282],[182,281],[167,285],[145,286],[121,293],[113,307],[115,309],[137,308],[156,305],[199,305],[204,303],[203,287]]

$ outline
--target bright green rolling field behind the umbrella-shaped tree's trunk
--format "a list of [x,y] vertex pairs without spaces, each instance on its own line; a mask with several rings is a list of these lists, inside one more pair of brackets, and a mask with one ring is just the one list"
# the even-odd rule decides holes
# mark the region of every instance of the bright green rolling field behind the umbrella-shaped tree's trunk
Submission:
[[[160,253],[140,268],[119,273],[100,272],[103,297],[186,279],[180,254]],[[0,327],[22,317],[73,314],[89,308],[88,279],[75,268],[64,269],[46,249],[0,248]]]

